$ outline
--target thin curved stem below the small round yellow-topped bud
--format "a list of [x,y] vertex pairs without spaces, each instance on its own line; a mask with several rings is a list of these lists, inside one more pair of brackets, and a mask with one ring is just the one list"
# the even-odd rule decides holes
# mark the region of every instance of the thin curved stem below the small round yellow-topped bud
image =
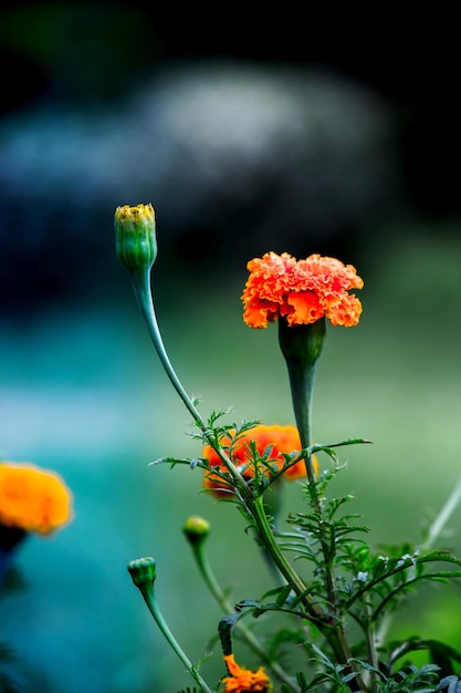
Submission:
[[[221,587],[218,580],[216,579],[213,571],[211,570],[210,563],[203,550],[203,544],[192,546],[192,550],[193,550],[193,556],[197,561],[197,566],[211,594],[214,597],[216,601],[219,603],[219,606],[221,607],[222,611],[226,614],[233,613],[234,609],[232,604],[230,603],[230,601],[227,599],[226,594],[221,590]],[[300,693],[301,691],[300,686],[294,681],[292,681],[292,679],[286,674],[286,672],[282,669],[282,666],[280,666],[277,662],[271,661],[263,645],[258,640],[258,638],[252,633],[252,631],[249,628],[247,628],[247,625],[242,623],[241,621],[238,621],[235,623],[235,628],[243,635],[243,638],[245,639],[249,647],[253,650],[253,652],[255,652],[265,662],[265,664],[270,669],[272,669],[272,671],[279,678],[279,680],[283,681],[290,687],[290,690],[293,691],[293,693]]]

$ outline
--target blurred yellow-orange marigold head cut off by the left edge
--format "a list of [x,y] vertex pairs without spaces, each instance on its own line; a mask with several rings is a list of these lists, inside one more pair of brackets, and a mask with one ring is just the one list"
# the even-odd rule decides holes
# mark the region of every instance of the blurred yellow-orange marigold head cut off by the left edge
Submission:
[[72,494],[54,472],[0,464],[0,524],[45,535],[72,518]]

